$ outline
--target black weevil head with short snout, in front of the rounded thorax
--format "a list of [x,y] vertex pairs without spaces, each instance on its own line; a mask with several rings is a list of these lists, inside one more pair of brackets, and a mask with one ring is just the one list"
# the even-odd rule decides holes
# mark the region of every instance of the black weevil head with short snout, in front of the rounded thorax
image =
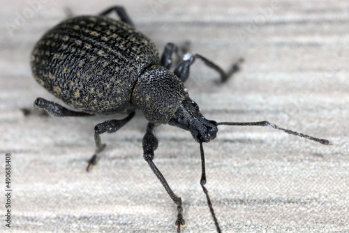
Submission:
[[190,131],[196,142],[214,140],[218,132],[217,122],[205,119],[200,107],[189,97],[181,102],[168,124]]

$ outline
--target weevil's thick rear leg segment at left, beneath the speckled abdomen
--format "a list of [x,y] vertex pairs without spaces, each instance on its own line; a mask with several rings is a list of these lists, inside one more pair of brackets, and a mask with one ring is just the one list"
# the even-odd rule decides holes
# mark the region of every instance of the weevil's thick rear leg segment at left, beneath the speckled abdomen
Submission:
[[54,117],[89,117],[93,116],[93,114],[89,114],[86,112],[75,112],[72,110],[68,110],[66,107],[59,105],[58,103],[54,103],[52,101],[45,100],[44,98],[37,98],[34,102],[36,107],[46,110],[48,113],[53,115]]

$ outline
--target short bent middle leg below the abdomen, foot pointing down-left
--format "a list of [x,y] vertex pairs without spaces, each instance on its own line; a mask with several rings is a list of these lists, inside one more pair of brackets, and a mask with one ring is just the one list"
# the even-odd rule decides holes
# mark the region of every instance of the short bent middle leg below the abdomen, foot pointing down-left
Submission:
[[98,125],[94,127],[94,140],[96,142],[96,151],[94,153],[94,156],[92,156],[89,159],[89,162],[88,162],[89,164],[87,165],[87,168],[86,168],[87,172],[89,172],[89,167],[91,165],[96,165],[98,153],[103,151],[103,149],[105,148],[105,144],[102,144],[101,142],[100,135],[105,132],[107,133],[117,132],[117,130],[119,130],[122,126],[126,125],[126,123],[130,121],[134,115],[135,115],[135,112],[131,112],[131,114],[129,114],[124,119],[104,121],[103,123],[98,123]]

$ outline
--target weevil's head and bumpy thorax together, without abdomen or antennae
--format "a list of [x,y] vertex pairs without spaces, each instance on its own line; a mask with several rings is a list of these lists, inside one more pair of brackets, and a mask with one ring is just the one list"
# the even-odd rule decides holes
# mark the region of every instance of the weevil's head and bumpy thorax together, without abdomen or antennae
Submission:
[[183,82],[162,66],[144,70],[133,88],[131,101],[155,125],[168,123],[188,130],[197,142],[209,142],[216,137],[216,121],[202,116]]

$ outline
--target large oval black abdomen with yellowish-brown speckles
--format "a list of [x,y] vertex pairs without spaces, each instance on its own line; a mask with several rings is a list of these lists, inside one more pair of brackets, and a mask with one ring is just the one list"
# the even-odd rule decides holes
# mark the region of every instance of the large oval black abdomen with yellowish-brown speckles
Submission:
[[145,68],[158,63],[149,38],[124,22],[80,16],[45,33],[31,57],[35,79],[82,112],[131,112],[133,86]]

